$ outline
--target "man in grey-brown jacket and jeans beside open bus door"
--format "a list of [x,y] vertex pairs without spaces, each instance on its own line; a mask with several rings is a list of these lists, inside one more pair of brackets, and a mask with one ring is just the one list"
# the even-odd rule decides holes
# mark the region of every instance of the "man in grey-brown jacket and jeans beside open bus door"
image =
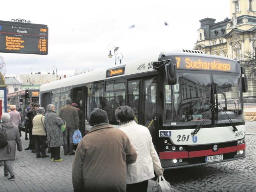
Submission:
[[[74,155],[73,150],[73,134],[76,129],[79,129],[79,116],[75,107],[72,106],[72,99],[66,100],[66,106],[60,109],[60,118],[66,121],[66,132],[63,135],[64,155]],[[66,134],[66,135],[65,135]],[[69,142],[69,143],[68,143]]]

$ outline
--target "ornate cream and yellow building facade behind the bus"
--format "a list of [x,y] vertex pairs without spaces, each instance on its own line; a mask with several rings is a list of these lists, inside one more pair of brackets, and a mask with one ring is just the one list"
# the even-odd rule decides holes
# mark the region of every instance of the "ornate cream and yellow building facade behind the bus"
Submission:
[[[194,49],[239,60],[249,71],[244,55],[256,51],[256,0],[230,0],[230,18],[218,23],[213,18],[200,20]],[[255,84],[255,78],[248,79],[245,99],[256,98]]]

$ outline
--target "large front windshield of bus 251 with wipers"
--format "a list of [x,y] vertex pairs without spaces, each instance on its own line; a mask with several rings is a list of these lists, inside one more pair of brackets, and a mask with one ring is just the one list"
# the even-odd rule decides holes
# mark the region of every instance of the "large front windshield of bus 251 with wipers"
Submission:
[[177,84],[165,85],[163,127],[193,129],[201,121],[202,127],[221,127],[230,120],[242,125],[240,90],[238,73],[179,70]]

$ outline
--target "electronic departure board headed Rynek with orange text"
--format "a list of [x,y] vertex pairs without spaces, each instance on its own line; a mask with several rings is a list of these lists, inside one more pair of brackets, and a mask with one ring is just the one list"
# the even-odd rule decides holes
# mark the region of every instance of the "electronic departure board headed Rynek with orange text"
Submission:
[[0,21],[0,52],[47,55],[47,25]]

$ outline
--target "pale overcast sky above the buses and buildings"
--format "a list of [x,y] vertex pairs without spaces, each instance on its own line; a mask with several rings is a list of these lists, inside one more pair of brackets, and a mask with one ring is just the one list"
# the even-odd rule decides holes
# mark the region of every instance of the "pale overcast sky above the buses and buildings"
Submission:
[[230,18],[230,0],[3,0],[0,6],[2,21],[20,18],[49,28],[48,55],[0,53],[6,76],[52,73],[52,66],[66,75],[113,66],[110,43],[119,47],[122,62],[192,49],[199,20]]

